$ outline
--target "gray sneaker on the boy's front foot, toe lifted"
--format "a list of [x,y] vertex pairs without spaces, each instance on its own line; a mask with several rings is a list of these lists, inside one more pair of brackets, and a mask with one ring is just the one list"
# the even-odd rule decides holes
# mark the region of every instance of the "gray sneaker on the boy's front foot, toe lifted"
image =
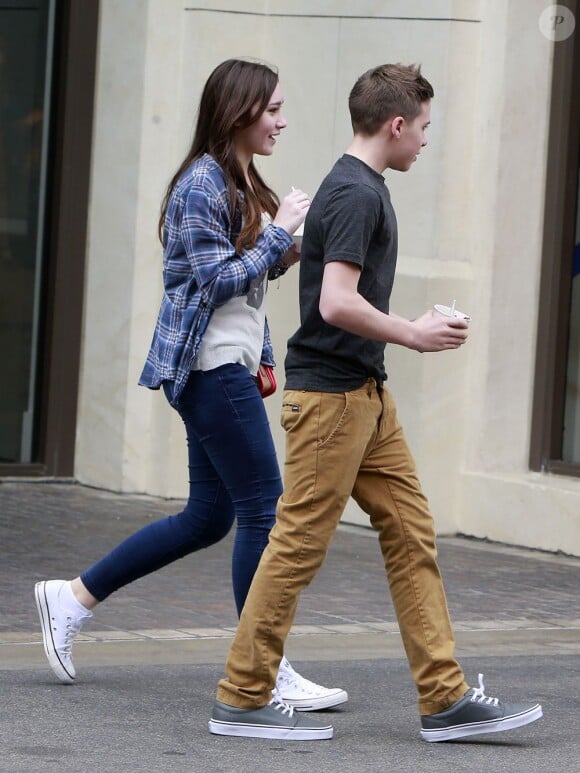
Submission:
[[480,674],[479,687],[472,687],[445,711],[421,717],[421,736],[425,741],[451,741],[512,730],[529,725],[541,716],[539,703],[503,703],[488,697],[484,693],[483,674]]

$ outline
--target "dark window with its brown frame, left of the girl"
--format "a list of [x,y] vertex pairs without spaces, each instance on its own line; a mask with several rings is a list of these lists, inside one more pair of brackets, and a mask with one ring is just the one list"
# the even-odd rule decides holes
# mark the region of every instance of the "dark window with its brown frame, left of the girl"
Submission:
[[70,476],[98,0],[0,0],[0,476]]

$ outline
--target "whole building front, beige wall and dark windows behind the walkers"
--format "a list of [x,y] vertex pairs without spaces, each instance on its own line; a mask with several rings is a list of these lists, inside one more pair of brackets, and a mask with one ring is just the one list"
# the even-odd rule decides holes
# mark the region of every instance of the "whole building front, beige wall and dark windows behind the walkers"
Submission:
[[[261,170],[314,193],[356,77],[417,62],[435,99],[425,152],[386,175],[391,308],[456,299],[472,323],[457,352],[387,347],[389,386],[440,533],[580,555],[576,18],[545,0],[0,0],[0,475],[185,496],[180,420],[136,382],[203,83],[229,57],[276,64],[288,128]],[[297,271],[269,296],[283,382]]]

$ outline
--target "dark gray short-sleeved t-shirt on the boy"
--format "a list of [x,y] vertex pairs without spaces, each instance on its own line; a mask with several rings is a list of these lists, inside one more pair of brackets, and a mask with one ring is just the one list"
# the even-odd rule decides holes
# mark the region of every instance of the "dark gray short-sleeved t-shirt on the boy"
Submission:
[[300,327],[288,341],[286,389],[347,392],[383,382],[385,343],[327,324],[319,311],[322,275],[333,260],[361,267],[360,294],[389,311],[397,263],[397,220],[382,175],[354,156],[340,158],[306,217],[300,259]]

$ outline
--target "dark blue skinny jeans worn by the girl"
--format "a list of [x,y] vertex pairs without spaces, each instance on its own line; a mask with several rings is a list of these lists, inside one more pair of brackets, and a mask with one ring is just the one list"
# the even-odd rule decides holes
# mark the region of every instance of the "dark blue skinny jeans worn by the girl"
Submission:
[[219,542],[235,520],[232,582],[239,615],[282,493],[263,400],[248,369],[228,364],[192,371],[176,409],[189,456],[184,510],[121,542],[81,580],[103,601],[139,577]]

